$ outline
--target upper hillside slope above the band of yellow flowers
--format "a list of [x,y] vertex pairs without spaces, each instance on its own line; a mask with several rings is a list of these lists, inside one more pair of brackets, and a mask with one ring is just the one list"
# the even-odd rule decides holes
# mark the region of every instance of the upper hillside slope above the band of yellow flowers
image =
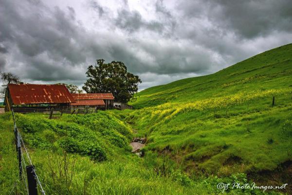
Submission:
[[145,89],[132,102],[135,108],[166,102],[192,102],[241,90],[291,87],[292,44],[260,53],[214,74],[186,78]]

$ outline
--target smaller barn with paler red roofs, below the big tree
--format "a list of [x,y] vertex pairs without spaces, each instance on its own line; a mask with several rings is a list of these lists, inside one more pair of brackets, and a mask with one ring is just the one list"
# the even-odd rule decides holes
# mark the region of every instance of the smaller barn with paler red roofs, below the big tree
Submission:
[[112,109],[114,97],[112,93],[72,93],[74,108],[95,107],[96,109]]

